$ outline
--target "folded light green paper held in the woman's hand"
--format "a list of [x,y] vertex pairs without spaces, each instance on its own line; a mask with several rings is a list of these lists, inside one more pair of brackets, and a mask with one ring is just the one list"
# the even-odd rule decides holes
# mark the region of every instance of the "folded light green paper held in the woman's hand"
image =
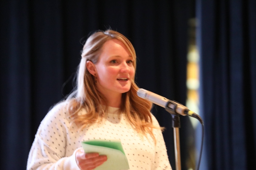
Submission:
[[82,147],[86,153],[98,152],[100,155],[107,155],[107,161],[95,168],[95,170],[129,169],[128,160],[125,156],[120,140],[83,141]]

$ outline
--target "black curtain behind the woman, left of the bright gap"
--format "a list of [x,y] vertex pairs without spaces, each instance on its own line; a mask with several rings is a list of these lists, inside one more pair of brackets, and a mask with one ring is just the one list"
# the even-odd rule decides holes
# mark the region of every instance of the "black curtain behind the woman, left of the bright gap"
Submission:
[[[111,27],[128,37],[137,52],[139,87],[185,104],[190,4],[189,0],[1,0],[0,169],[25,169],[40,121],[71,91],[81,43],[93,30]],[[175,169],[171,116],[158,106],[153,113],[166,127],[164,138]],[[191,127],[185,123],[184,169],[187,149],[182,139],[186,127]]]

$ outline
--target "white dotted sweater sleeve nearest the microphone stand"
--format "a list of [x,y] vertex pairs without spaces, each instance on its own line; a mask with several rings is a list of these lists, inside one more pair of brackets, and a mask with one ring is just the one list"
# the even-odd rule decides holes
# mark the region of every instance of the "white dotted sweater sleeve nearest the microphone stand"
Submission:
[[[152,120],[155,126],[160,127],[156,118],[152,115]],[[154,170],[172,170],[166,145],[163,137],[163,133],[161,130],[155,129],[154,131],[155,137],[156,137],[156,147],[155,147],[155,161],[153,163],[152,168]]]

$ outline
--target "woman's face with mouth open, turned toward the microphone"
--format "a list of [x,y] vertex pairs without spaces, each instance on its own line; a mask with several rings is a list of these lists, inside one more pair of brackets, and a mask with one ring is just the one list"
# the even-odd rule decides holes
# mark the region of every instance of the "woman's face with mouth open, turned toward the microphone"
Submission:
[[97,88],[104,95],[125,93],[130,90],[135,75],[134,59],[116,39],[106,41],[95,64]]

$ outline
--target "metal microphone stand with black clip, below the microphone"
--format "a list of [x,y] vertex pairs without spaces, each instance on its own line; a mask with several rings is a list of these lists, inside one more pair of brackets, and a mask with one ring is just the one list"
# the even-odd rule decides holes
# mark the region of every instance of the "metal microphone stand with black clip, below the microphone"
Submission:
[[[174,107],[169,107],[170,104]],[[169,101],[166,104],[165,110],[171,113],[172,115],[172,127],[173,127],[173,137],[174,137],[174,152],[175,152],[175,165],[176,170],[181,170],[181,150],[180,150],[180,115],[176,113],[176,106],[177,104]]]

